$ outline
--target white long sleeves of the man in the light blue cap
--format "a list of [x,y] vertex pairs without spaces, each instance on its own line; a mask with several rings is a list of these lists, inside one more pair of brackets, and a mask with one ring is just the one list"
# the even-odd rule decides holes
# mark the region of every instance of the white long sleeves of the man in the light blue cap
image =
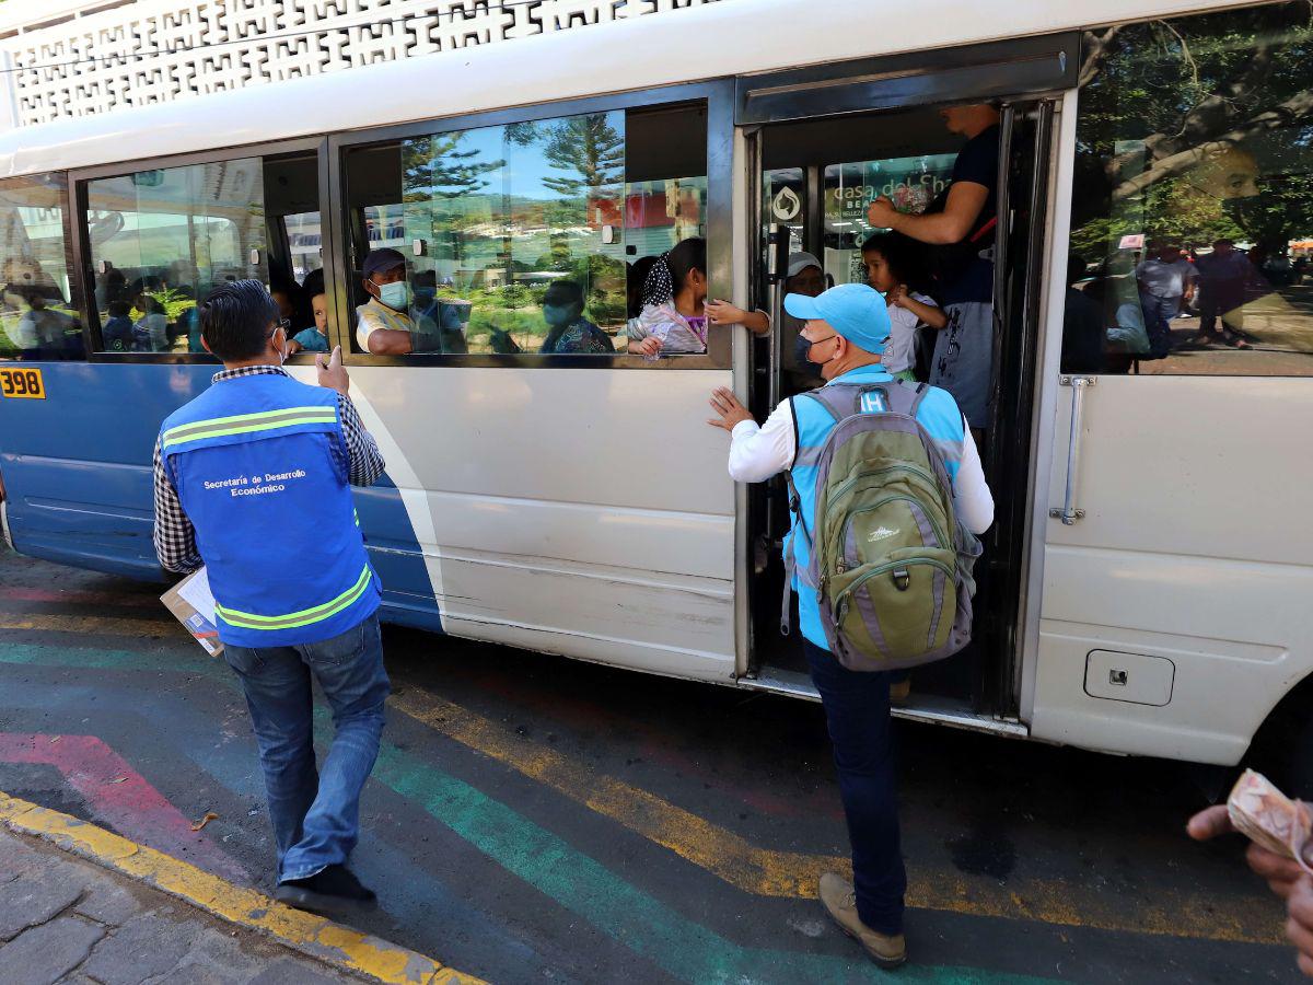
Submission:
[[[994,495],[985,482],[981,456],[972,431],[962,422],[962,461],[953,478],[953,510],[972,533],[985,533],[994,523]],[[735,482],[764,482],[793,465],[797,439],[793,405],[784,401],[764,426],[743,420],[730,432],[730,478]]]

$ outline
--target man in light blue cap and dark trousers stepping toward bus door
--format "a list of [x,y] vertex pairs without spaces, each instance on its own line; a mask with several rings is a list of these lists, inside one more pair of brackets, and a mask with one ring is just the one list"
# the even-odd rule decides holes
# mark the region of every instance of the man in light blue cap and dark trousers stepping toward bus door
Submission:
[[[889,341],[885,299],[864,284],[843,284],[809,298],[789,294],[784,309],[804,319],[798,355],[819,368],[830,383],[895,383],[881,366]],[[800,491],[800,514],[785,550],[802,542],[798,525],[814,529],[815,462],[798,460],[800,448],[825,444],[834,419],[815,401],[784,401],[764,427],[727,389],[712,394],[716,418],[709,424],[731,435],[729,470],[735,482],[764,482],[792,471]],[[979,454],[962,412],[945,390],[931,387],[920,402],[916,420],[944,453],[953,483],[958,520],[973,533],[982,533],[994,520],[994,499],[981,470]],[[804,565],[805,567],[805,565]],[[798,570],[804,570],[800,567]],[[821,901],[844,931],[857,938],[881,965],[894,967],[907,957],[902,936],[903,871],[898,839],[898,802],[890,747],[889,683],[884,672],[856,672],[843,667],[830,653],[814,591],[798,595],[802,649],[811,667],[811,680],[825,704],[839,793],[852,842],[853,883],[827,873],[821,877]]]

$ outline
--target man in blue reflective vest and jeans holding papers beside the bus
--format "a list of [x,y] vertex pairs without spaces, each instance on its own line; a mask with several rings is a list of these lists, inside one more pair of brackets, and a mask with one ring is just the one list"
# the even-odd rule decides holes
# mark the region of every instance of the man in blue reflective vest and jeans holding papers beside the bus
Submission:
[[[276,897],[326,914],[370,910],[374,894],[345,863],[389,683],[351,486],[373,485],[383,460],[348,397],[340,348],[327,364],[315,356],[319,386],[282,370],[288,323],[263,284],[215,289],[200,322],[223,372],[160,428],[155,552],[169,571],[206,567],[260,747]],[[318,771],[311,678],[336,726]]]

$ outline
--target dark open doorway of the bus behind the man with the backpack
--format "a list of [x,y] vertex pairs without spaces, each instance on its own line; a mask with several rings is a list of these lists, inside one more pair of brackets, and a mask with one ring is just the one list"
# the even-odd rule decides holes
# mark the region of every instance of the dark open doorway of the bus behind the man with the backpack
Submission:
[[[986,320],[977,344],[987,366],[985,416],[974,428],[995,499],[995,524],[982,537],[985,556],[976,569],[976,628],[972,645],[956,657],[913,674],[913,708],[964,714],[1015,711],[1015,623],[1019,599],[1020,538],[1028,489],[1029,374],[1033,372],[1043,248],[1049,110],[1037,102],[997,104],[999,150],[991,184],[998,221],[977,230],[985,271]],[[818,368],[800,362],[794,340],[801,323],[783,311],[786,293],[818,294],[869,282],[863,246],[884,230],[868,218],[871,202],[885,197],[898,211],[943,206],[955,164],[966,142],[952,133],[939,106],[850,114],[772,123],[756,133],[758,223],[754,247],[756,303],[771,310],[775,332],[755,341],[752,410],[763,420],[781,399],[823,383]],[[985,223],[982,223],[985,226]],[[927,259],[931,257],[931,259]],[[979,273],[977,271],[977,273]],[[906,294],[948,311],[932,251],[910,251],[898,269]],[[918,319],[907,369],[918,381],[936,378],[945,330]],[[805,686],[806,666],[796,633],[780,634],[783,563],[789,528],[783,479],[754,487],[752,653],[759,680]],[[796,624],[794,624],[796,625]]]

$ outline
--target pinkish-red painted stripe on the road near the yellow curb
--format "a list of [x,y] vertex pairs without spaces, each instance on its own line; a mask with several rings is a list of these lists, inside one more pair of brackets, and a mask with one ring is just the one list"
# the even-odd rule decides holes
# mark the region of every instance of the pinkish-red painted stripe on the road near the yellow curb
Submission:
[[125,838],[251,884],[251,875],[206,831],[193,831],[192,822],[164,795],[95,735],[0,732],[0,763],[53,766],[97,820]]

